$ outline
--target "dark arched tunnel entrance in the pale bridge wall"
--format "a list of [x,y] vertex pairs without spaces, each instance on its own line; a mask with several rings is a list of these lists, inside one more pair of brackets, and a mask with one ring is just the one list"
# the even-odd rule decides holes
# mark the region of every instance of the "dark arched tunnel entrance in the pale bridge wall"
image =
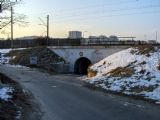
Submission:
[[74,65],[75,74],[87,74],[87,69],[91,65],[91,61],[88,58],[81,57],[79,58]]

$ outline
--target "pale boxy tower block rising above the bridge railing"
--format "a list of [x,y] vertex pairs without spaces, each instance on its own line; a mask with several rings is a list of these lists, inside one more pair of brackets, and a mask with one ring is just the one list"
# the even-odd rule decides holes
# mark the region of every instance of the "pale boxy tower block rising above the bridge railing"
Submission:
[[69,39],[81,39],[82,32],[81,31],[69,31]]

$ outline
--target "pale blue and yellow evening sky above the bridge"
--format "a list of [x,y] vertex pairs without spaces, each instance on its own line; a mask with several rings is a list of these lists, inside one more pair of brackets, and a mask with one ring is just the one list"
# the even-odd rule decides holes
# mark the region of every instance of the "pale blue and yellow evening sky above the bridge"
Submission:
[[[46,24],[49,15],[49,34],[54,38],[78,30],[84,37],[116,35],[137,40],[155,39],[157,32],[160,40],[160,0],[24,0],[14,12],[25,14],[29,22],[15,24],[14,37],[45,36],[46,27],[40,24]],[[9,32],[8,27],[5,33]]]

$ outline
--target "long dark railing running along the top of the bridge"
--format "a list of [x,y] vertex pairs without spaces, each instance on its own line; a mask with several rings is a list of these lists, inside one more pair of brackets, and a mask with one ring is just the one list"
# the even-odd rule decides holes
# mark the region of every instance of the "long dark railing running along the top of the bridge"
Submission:
[[[11,40],[1,40],[0,49],[11,48]],[[105,39],[49,39],[48,46],[120,46],[120,45],[145,45],[149,44],[145,41],[108,41]],[[152,45],[160,45],[159,43],[150,43]],[[29,39],[29,40],[13,40],[13,48],[27,48],[47,46],[46,39]]]

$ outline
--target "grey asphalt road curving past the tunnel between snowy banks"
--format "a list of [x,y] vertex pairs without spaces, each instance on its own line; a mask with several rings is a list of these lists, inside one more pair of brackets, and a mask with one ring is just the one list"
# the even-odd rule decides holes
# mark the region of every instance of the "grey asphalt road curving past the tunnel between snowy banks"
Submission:
[[0,66],[0,72],[32,92],[42,120],[160,120],[160,106],[85,88],[77,75]]

